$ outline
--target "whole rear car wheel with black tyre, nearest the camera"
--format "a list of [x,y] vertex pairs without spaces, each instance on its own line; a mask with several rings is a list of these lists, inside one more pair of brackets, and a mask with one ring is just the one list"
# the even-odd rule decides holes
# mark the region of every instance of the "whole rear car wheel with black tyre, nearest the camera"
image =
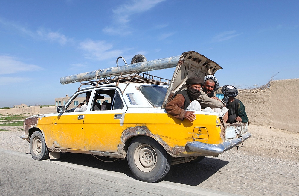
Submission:
[[127,159],[134,176],[149,183],[161,180],[171,165],[171,156],[149,137],[134,138],[129,145]]

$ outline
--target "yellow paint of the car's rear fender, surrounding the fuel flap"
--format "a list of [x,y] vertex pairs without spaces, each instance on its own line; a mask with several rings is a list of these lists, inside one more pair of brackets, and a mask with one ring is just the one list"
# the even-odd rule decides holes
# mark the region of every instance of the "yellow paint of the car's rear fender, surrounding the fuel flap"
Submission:
[[[220,137],[220,127],[216,127],[217,119],[220,122],[217,116],[197,114],[196,120],[191,123],[186,119],[181,121],[167,113],[127,113],[123,129],[146,126],[152,134],[159,135],[170,147],[185,146],[187,142],[192,141],[220,144],[223,142],[223,138]],[[194,139],[192,136],[195,127],[205,127],[208,130],[209,139]]]

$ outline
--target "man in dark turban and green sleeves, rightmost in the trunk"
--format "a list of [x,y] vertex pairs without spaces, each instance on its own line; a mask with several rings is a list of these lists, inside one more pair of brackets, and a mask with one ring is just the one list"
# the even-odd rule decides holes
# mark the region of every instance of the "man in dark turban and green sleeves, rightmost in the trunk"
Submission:
[[247,123],[249,120],[245,112],[245,106],[239,99],[235,99],[238,95],[237,88],[231,85],[225,85],[221,91],[224,94],[224,101],[229,109],[227,123],[234,123],[236,121]]

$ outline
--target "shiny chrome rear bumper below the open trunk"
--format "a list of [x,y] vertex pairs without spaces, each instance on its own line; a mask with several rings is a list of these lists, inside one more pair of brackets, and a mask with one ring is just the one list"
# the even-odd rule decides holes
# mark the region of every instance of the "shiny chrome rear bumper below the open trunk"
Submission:
[[[251,137],[251,133],[247,132],[243,134],[243,141]],[[234,138],[223,142],[222,144],[206,144],[199,141],[194,141],[187,144],[187,147],[194,152],[199,152],[205,154],[205,156],[216,156],[236,147],[238,144],[242,143],[242,137]]]

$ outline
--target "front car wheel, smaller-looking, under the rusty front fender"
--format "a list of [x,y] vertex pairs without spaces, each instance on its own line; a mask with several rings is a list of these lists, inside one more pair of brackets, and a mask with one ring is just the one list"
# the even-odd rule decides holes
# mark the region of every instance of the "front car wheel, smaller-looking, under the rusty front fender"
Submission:
[[44,136],[36,131],[30,137],[30,153],[35,160],[44,160],[49,158],[49,150],[46,146]]

